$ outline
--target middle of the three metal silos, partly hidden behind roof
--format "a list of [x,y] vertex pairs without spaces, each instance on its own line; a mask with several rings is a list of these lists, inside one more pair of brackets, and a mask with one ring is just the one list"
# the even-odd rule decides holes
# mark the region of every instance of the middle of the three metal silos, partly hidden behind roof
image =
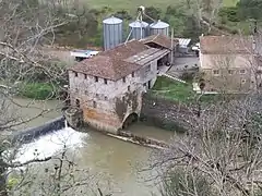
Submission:
[[132,30],[131,38],[143,39],[147,36],[148,23],[135,21],[129,24],[129,28]]

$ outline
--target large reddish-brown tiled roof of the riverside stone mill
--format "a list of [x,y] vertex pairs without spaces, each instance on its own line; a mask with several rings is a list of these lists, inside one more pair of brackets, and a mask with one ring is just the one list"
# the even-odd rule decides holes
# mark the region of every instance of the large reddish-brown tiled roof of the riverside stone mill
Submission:
[[144,44],[138,40],[131,40],[114,49],[103,51],[91,59],[85,59],[69,70],[118,81],[141,68],[141,65],[127,62],[124,59],[147,49],[148,47]]

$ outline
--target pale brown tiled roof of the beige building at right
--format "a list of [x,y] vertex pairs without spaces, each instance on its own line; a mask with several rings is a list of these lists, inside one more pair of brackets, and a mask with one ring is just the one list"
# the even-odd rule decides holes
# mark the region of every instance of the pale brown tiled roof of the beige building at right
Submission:
[[200,51],[210,54],[252,53],[252,37],[201,36]]

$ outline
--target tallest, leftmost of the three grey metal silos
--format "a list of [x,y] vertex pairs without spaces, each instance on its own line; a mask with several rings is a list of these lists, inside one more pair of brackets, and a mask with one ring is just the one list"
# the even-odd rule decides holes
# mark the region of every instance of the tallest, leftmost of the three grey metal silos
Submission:
[[111,16],[103,21],[104,49],[115,48],[122,42],[122,20]]

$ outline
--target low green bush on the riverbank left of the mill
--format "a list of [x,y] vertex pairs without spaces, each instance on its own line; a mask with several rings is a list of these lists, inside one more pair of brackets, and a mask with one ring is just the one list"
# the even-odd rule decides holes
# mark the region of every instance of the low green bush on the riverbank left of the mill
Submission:
[[20,95],[32,99],[50,99],[56,95],[53,86],[47,83],[27,83],[20,90]]

